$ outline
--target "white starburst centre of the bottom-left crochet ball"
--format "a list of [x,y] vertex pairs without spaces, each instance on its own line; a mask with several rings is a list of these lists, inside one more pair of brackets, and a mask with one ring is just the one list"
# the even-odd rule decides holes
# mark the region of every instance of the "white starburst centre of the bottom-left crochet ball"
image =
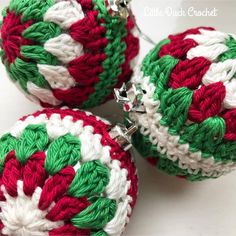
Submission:
[[11,197],[5,187],[2,185],[6,201],[0,202],[1,213],[0,219],[4,228],[2,233],[12,236],[44,236],[47,231],[58,228],[64,224],[62,221],[52,222],[46,219],[48,209],[41,211],[38,208],[39,196],[42,192],[41,188],[37,188],[32,197],[28,197],[23,191],[23,182],[18,180],[17,193],[18,196]]

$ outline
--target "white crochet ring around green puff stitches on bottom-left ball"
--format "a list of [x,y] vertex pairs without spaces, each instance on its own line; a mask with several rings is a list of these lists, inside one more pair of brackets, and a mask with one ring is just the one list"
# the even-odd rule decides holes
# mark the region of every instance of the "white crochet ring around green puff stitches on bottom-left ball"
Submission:
[[[97,119],[100,120],[98,117]],[[132,197],[127,195],[130,180],[127,179],[127,170],[120,168],[120,161],[111,159],[110,146],[103,146],[101,144],[102,136],[100,134],[93,134],[94,128],[88,125],[84,126],[82,120],[73,122],[72,116],[66,116],[61,119],[59,114],[53,114],[49,119],[45,114],[41,114],[37,117],[28,116],[24,121],[20,120],[15,124],[10,131],[11,135],[19,138],[29,124],[46,124],[50,140],[71,133],[80,139],[81,163],[91,160],[100,160],[101,163],[109,167],[110,180],[105,193],[110,199],[115,199],[117,196],[118,209],[115,217],[105,226],[104,231],[109,232],[111,235],[119,235],[120,232],[123,231],[120,227],[126,225],[129,220],[129,215],[131,214],[130,203],[132,202]],[[80,165],[78,164],[75,168],[79,169]],[[117,189],[115,189],[114,186],[117,186]]]

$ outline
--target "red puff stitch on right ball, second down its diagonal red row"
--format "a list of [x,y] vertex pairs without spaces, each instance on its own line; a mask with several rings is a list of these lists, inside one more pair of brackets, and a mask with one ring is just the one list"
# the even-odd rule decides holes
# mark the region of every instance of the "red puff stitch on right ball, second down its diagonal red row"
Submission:
[[187,87],[193,90],[197,89],[210,65],[211,62],[204,57],[179,61],[171,72],[169,87],[173,89],[181,87]]

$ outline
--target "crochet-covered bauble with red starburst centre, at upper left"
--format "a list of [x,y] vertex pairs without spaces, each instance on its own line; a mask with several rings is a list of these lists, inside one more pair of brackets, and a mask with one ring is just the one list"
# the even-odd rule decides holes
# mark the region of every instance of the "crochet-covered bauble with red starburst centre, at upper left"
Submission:
[[11,0],[0,28],[9,77],[44,107],[112,99],[139,52],[132,17],[114,15],[104,0]]

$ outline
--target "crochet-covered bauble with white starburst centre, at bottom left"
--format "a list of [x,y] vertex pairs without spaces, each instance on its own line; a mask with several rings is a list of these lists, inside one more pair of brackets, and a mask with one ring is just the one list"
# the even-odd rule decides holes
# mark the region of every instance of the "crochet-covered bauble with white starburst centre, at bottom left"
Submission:
[[19,120],[0,139],[1,235],[120,235],[137,197],[107,121],[70,109]]

